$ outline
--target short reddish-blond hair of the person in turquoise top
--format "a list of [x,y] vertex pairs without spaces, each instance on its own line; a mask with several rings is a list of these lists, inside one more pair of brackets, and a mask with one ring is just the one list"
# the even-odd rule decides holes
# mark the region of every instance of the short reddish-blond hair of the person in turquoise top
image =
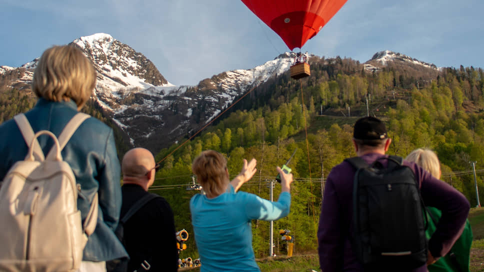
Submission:
[[228,183],[226,169],[225,157],[213,150],[201,152],[191,164],[191,170],[208,197],[215,197],[224,192]]

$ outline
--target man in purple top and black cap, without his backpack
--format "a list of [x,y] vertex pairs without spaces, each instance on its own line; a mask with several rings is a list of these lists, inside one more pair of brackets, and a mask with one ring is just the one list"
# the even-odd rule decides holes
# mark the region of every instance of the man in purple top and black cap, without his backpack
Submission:
[[[387,137],[383,122],[373,117],[356,121],[353,131],[356,154],[368,164],[385,157],[391,139]],[[387,161],[381,160],[384,167]],[[427,264],[445,255],[464,227],[469,212],[469,202],[459,191],[445,182],[435,179],[430,173],[412,162],[409,166],[420,185],[425,205],[442,211],[437,228],[428,241]],[[353,214],[353,176],[355,170],[349,162],[334,166],[327,176],[322,200],[319,228],[317,231],[319,264],[323,272],[364,271],[351,248]],[[397,234],[395,234],[397,235]],[[400,271],[398,267],[387,267],[386,271]],[[411,271],[427,271],[422,265]],[[406,271],[405,271],[406,272]]]

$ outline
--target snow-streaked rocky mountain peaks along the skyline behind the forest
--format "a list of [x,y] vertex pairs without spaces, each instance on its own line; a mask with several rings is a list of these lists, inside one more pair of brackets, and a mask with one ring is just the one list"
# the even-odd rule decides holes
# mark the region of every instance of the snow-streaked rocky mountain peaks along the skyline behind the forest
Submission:
[[[97,70],[95,103],[122,129],[127,143],[153,152],[192,135],[251,88],[287,72],[294,59],[294,53],[283,53],[252,69],[225,71],[195,86],[175,86],[142,53],[108,34],[83,36],[69,44],[84,51]],[[19,69],[21,76],[11,86],[28,88],[37,61],[19,68],[0,66],[0,75]],[[392,62],[436,68],[391,51],[378,52],[365,64],[378,70]]]

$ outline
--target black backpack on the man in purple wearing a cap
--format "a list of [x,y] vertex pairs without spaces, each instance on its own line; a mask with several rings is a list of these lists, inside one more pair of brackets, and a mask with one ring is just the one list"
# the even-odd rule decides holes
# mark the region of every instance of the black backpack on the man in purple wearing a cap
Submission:
[[[379,160],[387,159],[383,167]],[[427,261],[425,205],[411,168],[388,156],[368,165],[345,159],[355,169],[352,248],[365,270],[410,270]]]

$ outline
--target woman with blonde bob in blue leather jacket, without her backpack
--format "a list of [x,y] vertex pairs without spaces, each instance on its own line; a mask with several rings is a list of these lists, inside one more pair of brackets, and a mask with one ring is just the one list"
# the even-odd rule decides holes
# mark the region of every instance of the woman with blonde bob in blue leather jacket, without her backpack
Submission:
[[[73,45],[46,49],[37,63],[32,90],[37,103],[24,113],[33,132],[49,130],[56,137],[91,96],[96,71],[84,53]],[[77,208],[81,219],[98,193],[99,216],[94,232],[88,237],[77,271],[106,271],[106,260],[127,257],[114,229],[121,208],[120,167],[112,129],[90,116],[79,125],[61,151],[75,175],[78,189]],[[18,160],[23,160],[26,143],[14,119],[0,125],[0,180]],[[47,135],[38,138],[47,154],[53,145]],[[74,267],[74,269],[77,267]]]

